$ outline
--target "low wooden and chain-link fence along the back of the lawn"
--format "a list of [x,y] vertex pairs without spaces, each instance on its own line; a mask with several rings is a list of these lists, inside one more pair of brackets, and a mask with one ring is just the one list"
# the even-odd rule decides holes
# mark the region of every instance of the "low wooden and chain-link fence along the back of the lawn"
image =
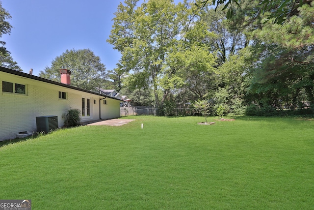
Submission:
[[157,109],[153,106],[137,106],[137,107],[121,107],[120,116],[129,115],[154,115],[154,116],[189,116],[193,115],[191,108],[172,108],[172,109]]

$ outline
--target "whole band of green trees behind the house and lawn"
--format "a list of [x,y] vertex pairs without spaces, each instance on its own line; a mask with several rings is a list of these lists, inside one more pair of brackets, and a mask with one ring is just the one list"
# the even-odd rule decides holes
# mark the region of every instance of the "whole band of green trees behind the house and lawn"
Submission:
[[[216,115],[313,114],[313,6],[313,0],[125,0],[107,39],[122,54],[115,69],[106,71],[89,49],[73,49],[39,76],[58,81],[59,69],[68,68],[72,85],[116,89],[134,106],[169,110],[206,101]],[[2,7],[0,15],[1,37],[11,26]]]

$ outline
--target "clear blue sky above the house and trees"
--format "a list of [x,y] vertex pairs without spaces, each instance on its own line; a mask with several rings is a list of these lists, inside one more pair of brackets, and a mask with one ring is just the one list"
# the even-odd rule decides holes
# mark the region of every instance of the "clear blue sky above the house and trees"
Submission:
[[[180,0],[175,0],[176,2]],[[120,0],[1,0],[12,19],[11,35],[0,40],[23,72],[40,70],[67,49],[90,49],[107,70],[121,57],[106,42]],[[140,1],[142,2],[142,1]]]

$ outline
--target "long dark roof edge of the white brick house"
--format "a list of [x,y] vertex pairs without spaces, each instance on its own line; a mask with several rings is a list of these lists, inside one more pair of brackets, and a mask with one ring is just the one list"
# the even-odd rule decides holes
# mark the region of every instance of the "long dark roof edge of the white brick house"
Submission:
[[[62,87],[65,87],[65,88],[70,88],[70,89],[73,89],[73,90],[79,90],[79,91],[82,91],[82,92],[92,93],[94,95],[104,96],[104,94],[101,94],[101,93],[80,89],[80,88],[77,88],[77,87],[74,87],[74,86],[71,86],[71,85],[55,82],[55,81],[52,81],[52,80],[49,80],[49,79],[45,79],[45,78],[42,78],[42,77],[38,77],[38,76],[34,76],[34,75],[31,75],[31,74],[26,74],[24,72],[12,70],[12,69],[9,69],[9,68],[3,67],[3,66],[0,66],[0,71],[6,72],[6,73],[9,73],[9,74],[14,74],[14,75],[21,76],[21,77],[26,77],[26,78],[33,79],[33,80],[38,80],[38,81],[45,82],[45,83],[50,83],[50,84],[53,84],[53,85],[62,86]],[[112,97],[112,96],[109,96],[109,95],[106,95],[106,97],[122,101],[119,98]]]

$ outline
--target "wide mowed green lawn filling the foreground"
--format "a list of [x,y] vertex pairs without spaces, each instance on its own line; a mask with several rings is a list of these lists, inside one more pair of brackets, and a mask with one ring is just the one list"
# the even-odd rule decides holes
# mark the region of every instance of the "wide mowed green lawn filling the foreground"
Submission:
[[33,210],[313,209],[312,120],[128,119],[1,147],[0,199]]

